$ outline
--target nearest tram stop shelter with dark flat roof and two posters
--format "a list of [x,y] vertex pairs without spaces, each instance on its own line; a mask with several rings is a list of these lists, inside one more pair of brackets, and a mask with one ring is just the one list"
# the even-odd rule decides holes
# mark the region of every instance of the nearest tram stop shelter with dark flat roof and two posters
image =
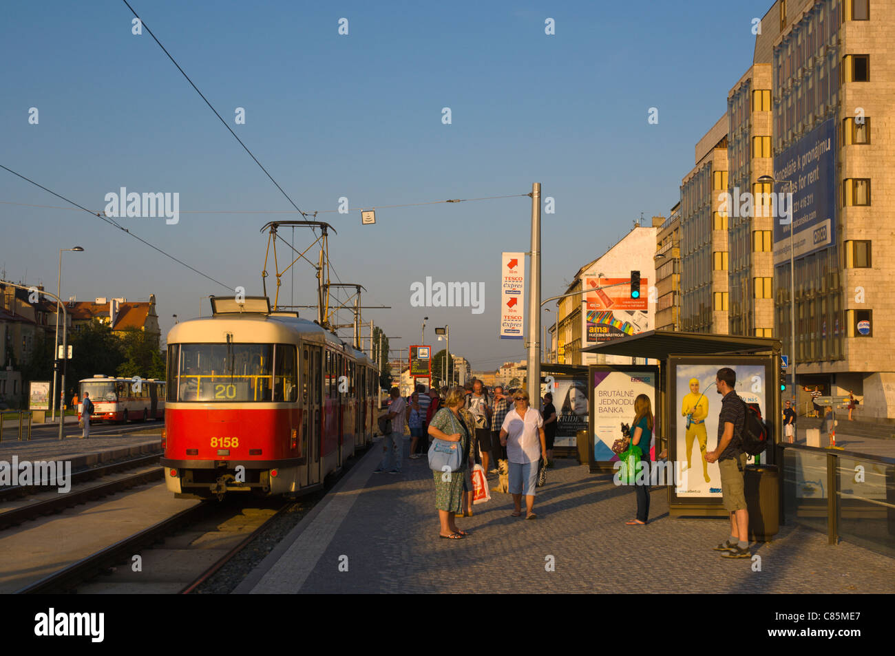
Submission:
[[[718,444],[720,395],[715,379],[719,369],[729,367],[737,373],[737,395],[759,405],[773,443],[780,443],[777,339],[652,330],[589,346],[582,353],[659,362],[658,366],[596,364],[588,368],[590,465],[592,472],[615,468],[618,456],[611,451],[612,443],[622,437],[623,424],[630,426],[635,399],[644,394],[656,424],[651,484],[667,487],[672,516],[728,514],[721,505],[718,464],[704,457]],[[775,451],[750,457],[750,464],[774,464]],[[779,492],[774,496],[773,503],[779,507]]]

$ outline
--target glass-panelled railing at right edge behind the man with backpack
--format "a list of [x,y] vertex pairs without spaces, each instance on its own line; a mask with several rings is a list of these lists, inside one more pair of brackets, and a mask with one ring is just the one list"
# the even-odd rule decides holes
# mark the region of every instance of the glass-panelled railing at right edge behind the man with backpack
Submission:
[[778,445],[780,512],[827,533],[895,557],[895,458],[853,451]]

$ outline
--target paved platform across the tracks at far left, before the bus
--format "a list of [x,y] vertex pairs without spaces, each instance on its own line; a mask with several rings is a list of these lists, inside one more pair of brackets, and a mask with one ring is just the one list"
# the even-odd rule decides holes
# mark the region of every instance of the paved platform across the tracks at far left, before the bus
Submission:
[[77,430],[65,435],[62,441],[56,430],[57,427],[32,431],[30,440],[4,439],[0,442],[0,461],[11,462],[13,456],[19,462],[70,461],[72,472],[78,472],[97,464],[161,451],[161,425],[149,424],[140,430],[95,426],[91,427],[88,439],[78,439],[81,431]]

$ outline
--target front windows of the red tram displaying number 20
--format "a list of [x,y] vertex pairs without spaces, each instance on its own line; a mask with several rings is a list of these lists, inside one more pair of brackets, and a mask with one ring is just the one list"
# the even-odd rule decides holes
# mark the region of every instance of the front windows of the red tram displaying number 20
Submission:
[[179,362],[172,362],[177,369],[169,372],[169,380],[175,383],[168,388],[169,400],[176,389],[177,401],[294,401],[298,382],[294,345],[178,346]]

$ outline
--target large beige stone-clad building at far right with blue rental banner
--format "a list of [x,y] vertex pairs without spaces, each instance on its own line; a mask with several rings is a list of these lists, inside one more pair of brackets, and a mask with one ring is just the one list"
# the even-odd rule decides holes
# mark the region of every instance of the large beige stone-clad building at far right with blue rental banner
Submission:
[[792,243],[797,388],[852,390],[859,417],[895,418],[895,2],[777,0],[754,63],[756,89],[771,64],[774,191],[797,201],[773,226],[775,337],[793,353]]

